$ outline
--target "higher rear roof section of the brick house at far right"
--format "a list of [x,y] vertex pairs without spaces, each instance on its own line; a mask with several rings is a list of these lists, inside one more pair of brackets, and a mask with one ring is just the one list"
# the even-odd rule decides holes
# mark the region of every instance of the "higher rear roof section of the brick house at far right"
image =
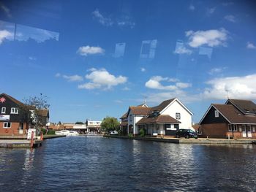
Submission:
[[250,100],[241,99],[227,99],[226,104],[230,101],[238,110],[241,110],[244,114],[252,113],[256,115],[256,104]]

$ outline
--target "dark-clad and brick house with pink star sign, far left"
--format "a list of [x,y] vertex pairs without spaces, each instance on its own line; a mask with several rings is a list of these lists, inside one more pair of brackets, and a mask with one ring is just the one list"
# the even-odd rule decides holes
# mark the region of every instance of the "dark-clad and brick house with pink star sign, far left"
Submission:
[[0,134],[26,135],[30,113],[26,105],[6,93],[0,94]]

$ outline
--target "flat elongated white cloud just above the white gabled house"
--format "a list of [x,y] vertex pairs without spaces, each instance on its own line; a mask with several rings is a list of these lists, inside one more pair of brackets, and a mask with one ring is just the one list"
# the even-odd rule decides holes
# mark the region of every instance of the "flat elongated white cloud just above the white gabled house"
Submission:
[[173,80],[173,79],[169,79],[168,77],[154,76],[154,77],[151,77],[150,80],[148,80],[145,83],[145,86],[151,89],[166,90],[166,91],[175,91],[175,90],[178,90],[179,88],[191,87],[191,84],[187,82],[176,82],[175,85],[162,85],[161,83],[162,81],[171,82],[170,80]]

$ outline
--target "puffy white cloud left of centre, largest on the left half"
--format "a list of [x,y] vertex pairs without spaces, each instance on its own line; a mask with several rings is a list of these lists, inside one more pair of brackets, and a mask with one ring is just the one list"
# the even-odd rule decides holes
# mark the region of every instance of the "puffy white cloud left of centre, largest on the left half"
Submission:
[[86,79],[89,80],[89,82],[86,82],[83,85],[78,85],[78,88],[102,88],[106,90],[112,88],[113,86],[127,82],[127,77],[121,75],[115,77],[113,74],[110,74],[106,69],[91,69],[91,73],[86,74]]

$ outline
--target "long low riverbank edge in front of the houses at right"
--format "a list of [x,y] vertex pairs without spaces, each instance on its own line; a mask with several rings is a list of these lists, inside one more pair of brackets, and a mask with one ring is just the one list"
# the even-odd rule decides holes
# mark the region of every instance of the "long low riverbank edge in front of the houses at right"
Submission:
[[181,138],[171,138],[171,137],[128,137],[128,136],[117,136],[117,135],[104,135],[108,138],[118,138],[118,139],[135,139],[135,140],[144,140],[152,142],[170,142],[178,144],[252,144],[256,142],[256,139],[206,139],[206,138],[190,138],[190,139],[181,139]]

